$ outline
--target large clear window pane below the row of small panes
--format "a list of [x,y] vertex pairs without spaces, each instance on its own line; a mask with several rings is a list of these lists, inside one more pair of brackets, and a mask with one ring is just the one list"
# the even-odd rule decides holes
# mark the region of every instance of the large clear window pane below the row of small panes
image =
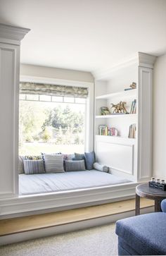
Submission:
[[20,155],[84,152],[85,104],[20,100],[19,114]]

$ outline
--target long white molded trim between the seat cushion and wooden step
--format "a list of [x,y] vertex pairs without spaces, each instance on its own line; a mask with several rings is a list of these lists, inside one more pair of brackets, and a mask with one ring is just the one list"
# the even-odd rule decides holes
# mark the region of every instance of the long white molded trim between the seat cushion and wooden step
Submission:
[[45,212],[55,212],[62,209],[98,205],[134,197],[138,183],[108,185],[98,188],[70,190],[57,193],[27,195],[0,200],[0,219],[18,217]]

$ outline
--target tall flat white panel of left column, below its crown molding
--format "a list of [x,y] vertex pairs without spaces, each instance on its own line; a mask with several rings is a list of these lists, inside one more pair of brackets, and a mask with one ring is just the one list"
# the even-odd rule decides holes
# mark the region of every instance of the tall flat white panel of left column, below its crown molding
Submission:
[[0,197],[15,193],[15,59],[17,47],[0,44]]

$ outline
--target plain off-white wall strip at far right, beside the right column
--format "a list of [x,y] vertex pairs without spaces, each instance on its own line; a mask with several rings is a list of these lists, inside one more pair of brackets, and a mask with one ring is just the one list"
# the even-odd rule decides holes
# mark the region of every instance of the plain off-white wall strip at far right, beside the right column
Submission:
[[153,176],[166,179],[166,54],[155,61],[153,81]]

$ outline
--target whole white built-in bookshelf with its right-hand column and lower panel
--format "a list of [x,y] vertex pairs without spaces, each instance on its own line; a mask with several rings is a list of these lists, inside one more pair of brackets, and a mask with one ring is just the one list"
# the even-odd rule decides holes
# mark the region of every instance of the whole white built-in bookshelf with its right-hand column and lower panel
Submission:
[[[151,178],[154,61],[154,56],[139,53],[136,61],[124,63],[112,73],[110,70],[107,78],[96,80],[96,160],[108,165],[111,173],[130,181],[145,182]],[[136,87],[130,87],[132,84]],[[113,106],[120,102],[125,102],[126,114],[115,113]]]

